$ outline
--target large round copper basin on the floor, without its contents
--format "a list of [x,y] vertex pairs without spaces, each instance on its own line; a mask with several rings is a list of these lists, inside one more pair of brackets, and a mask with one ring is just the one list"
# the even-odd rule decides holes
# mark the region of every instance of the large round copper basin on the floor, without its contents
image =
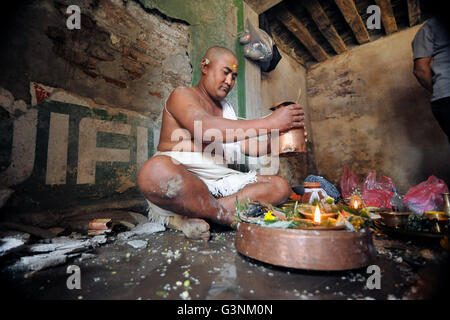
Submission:
[[370,265],[375,247],[368,230],[301,230],[240,223],[236,249],[250,258],[296,269],[338,271]]

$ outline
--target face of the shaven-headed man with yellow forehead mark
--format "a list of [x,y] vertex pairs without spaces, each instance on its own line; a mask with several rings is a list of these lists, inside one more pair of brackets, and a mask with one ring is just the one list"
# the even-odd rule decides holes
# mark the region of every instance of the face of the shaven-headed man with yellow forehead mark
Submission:
[[204,73],[208,93],[216,100],[224,99],[233,89],[237,74],[237,59],[233,55],[224,54],[211,61]]

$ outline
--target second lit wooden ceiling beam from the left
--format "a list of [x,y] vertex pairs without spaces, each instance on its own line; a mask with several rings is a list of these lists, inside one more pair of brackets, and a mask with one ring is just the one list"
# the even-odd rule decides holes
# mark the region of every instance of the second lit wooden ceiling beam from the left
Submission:
[[302,3],[306,10],[308,10],[320,32],[322,32],[325,39],[327,39],[333,47],[334,51],[336,51],[337,54],[346,51],[347,46],[330,22],[330,19],[328,19],[327,14],[323,11],[319,2],[317,2],[317,0],[303,0]]

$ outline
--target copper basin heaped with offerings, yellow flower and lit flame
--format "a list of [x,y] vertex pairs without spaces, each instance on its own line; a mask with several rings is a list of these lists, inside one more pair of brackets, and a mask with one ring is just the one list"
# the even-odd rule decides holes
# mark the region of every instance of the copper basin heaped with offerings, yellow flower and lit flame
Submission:
[[288,201],[274,207],[236,201],[239,253],[273,265],[309,270],[348,270],[373,262],[370,219],[327,197],[314,204]]

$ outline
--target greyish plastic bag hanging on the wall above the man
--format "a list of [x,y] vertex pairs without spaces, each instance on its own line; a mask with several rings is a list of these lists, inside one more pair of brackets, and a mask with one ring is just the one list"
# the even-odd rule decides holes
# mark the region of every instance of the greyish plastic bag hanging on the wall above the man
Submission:
[[245,21],[245,32],[239,42],[244,45],[244,55],[255,61],[270,61],[272,59],[272,38],[262,29],[252,26],[248,19]]

